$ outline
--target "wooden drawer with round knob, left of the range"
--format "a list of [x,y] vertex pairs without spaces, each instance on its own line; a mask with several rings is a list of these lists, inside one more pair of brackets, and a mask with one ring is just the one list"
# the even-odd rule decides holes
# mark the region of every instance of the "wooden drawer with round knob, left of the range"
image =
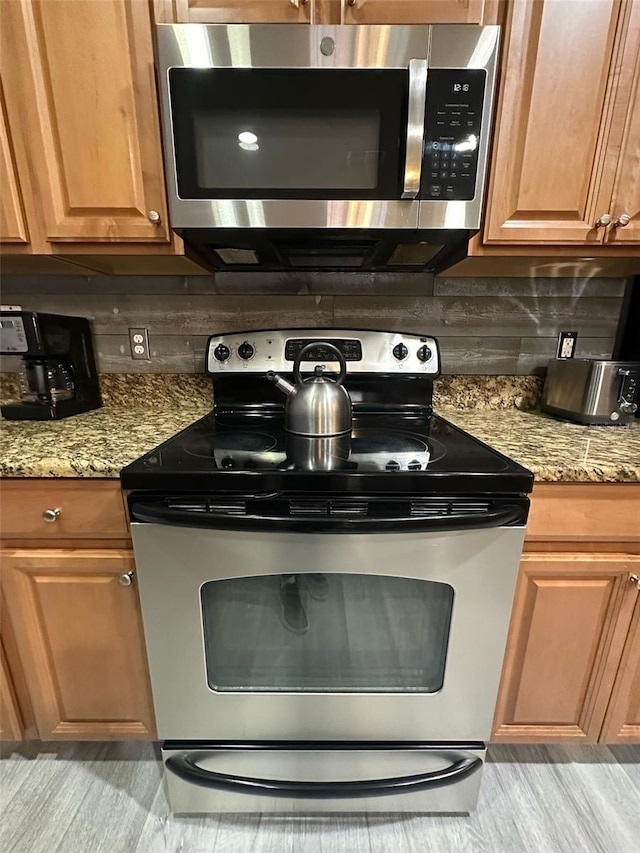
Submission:
[[[54,521],[43,513],[58,510]],[[118,480],[4,480],[4,539],[128,539]]]

